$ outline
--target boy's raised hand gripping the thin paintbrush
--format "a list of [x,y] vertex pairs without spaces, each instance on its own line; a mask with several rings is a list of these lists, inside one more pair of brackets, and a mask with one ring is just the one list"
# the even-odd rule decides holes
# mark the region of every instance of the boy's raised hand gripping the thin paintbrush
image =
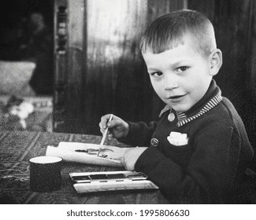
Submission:
[[118,118],[117,116],[113,116],[113,119],[109,122],[110,116],[110,114],[102,116],[101,122],[99,123],[102,134],[106,128],[109,127],[109,138],[125,138],[129,131],[128,123],[124,122],[123,119]]

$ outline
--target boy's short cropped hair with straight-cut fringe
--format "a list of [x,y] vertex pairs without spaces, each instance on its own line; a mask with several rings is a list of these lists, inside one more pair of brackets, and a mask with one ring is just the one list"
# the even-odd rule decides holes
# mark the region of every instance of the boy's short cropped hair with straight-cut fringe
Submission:
[[162,53],[182,43],[183,35],[190,33],[198,42],[198,52],[205,56],[216,49],[213,24],[194,10],[183,9],[158,17],[147,28],[140,41],[143,53]]

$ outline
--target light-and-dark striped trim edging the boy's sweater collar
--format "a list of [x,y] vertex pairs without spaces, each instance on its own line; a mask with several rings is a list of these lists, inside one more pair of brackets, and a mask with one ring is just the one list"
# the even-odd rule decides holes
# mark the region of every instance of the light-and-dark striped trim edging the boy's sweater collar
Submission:
[[[209,112],[210,109],[212,109],[216,105],[218,105],[221,102],[221,100],[222,100],[222,96],[221,96],[221,91],[220,91],[214,97],[212,97],[210,99],[210,101],[208,101],[206,103],[206,105],[197,114],[195,114],[195,116],[191,116],[189,118],[187,118],[186,114],[183,112],[176,112],[176,116],[178,118],[177,127],[182,127],[182,126],[184,126],[184,124],[189,123],[189,122],[193,121],[194,119],[197,119],[199,116],[202,116],[206,112]],[[171,112],[172,109],[173,108],[170,105],[166,105],[165,108],[163,108],[161,110],[159,117],[161,117],[162,114],[164,114],[167,111]]]

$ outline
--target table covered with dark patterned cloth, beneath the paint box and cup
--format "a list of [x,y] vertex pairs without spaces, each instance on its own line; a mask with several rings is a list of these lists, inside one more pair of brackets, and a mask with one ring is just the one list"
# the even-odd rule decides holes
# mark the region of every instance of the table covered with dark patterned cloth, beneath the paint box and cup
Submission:
[[[117,167],[100,167],[82,163],[64,163],[61,189],[54,192],[33,192],[29,185],[29,159],[44,156],[47,145],[57,146],[60,141],[100,143],[101,137],[85,134],[47,132],[0,133],[0,203],[168,203],[157,191],[95,192],[78,194],[69,178],[71,172],[122,170]],[[109,145],[123,144],[111,140]]]

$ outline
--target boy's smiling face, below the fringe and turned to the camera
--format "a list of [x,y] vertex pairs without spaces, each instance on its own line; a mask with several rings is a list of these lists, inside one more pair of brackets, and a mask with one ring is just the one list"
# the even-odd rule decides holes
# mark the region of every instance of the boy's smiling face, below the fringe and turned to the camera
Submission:
[[187,112],[208,90],[212,75],[210,59],[196,49],[191,35],[163,53],[143,53],[154,90],[166,104],[179,112]]

